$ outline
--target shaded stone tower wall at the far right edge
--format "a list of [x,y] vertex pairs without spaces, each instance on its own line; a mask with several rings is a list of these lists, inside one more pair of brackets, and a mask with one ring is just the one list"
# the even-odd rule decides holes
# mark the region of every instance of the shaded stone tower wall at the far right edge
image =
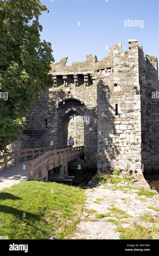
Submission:
[[[144,171],[158,171],[159,101],[158,62],[155,56],[140,51],[140,84],[142,88],[142,163]],[[155,94],[155,98],[152,94]]]

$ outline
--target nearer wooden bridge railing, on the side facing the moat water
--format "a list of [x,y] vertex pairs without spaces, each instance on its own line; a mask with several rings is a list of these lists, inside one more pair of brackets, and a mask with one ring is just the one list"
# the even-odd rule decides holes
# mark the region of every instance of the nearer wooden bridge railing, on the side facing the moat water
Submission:
[[[52,165],[53,165],[52,167],[54,168],[54,167],[57,167],[57,166],[61,165],[61,163],[64,164],[64,163],[66,163],[70,160],[73,160],[76,157],[75,153],[73,155],[73,151],[74,152],[79,151],[80,153],[83,153],[83,150],[84,150],[84,146],[77,146],[77,147],[73,147],[73,148],[52,150],[52,151],[48,151],[48,152],[44,153],[43,155],[41,155],[41,156],[37,157],[36,159],[33,159],[33,160],[31,160],[30,162],[27,163],[27,164],[30,165],[30,177],[34,178],[34,171],[38,167],[39,167],[39,170],[40,170],[39,177],[45,176],[45,175],[43,175],[43,164],[47,161],[47,170],[50,170],[50,168],[51,168],[50,167],[50,159],[51,158],[55,159],[55,161],[52,163]],[[67,152],[67,161],[66,161],[66,151],[68,151]],[[64,153],[62,153],[62,152],[64,152]],[[60,154],[58,154],[58,156],[59,156],[58,162],[59,163],[56,166],[56,154],[57,153],[60,153]],[[69,153],[70,153],[70,156],[69,156]],[[51,154],[53,154],[52,157],[51,157]],[[61,159],[62,154],[63,154],[63,159],[64,160]],[[78,152],[77,152],[77,156],[78,156]],[[34,165],[36,163],[37,163],[37,165]],[[46,167],[44,167],[44,168],[45,168],[44,172],[46,174]]]

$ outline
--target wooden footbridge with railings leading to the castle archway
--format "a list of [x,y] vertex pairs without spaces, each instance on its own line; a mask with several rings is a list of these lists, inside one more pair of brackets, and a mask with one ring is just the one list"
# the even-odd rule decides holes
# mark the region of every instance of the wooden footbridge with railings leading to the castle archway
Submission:
[[0,157],[0,182],[6,180],[50,180],[70,183],[67,163],[83,156],[84,146],[22,149]]

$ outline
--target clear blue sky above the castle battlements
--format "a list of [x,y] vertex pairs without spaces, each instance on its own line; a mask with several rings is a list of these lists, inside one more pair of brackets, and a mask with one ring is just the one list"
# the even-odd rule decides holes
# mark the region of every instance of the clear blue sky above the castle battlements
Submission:
[[[106,45],[138,39],[146,54],[159,57],[158,0],[41,0],[49,9],[42,12],[41,39],[51,42],[55,62],[68,56],[67,65],[85,61],[86,54],[101,60],[108,55]],[[144,20],[144,28],[124,27],[124,20]],[[81,26],[78,26],[78,22]]]

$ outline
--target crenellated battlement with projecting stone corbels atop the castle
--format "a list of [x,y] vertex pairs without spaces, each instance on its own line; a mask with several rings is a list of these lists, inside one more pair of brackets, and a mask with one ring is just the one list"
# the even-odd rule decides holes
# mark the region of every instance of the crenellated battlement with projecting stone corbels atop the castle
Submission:
[[[72,65],[66,66],[68,57],[65,56],[55,64],[51,65],[51,73],[54,77],[54,87],[62,86],[68,87],[69,80],[76,86],[82,85],[81,82],[78,83],[78,79],[84,81],[85,86],[89,86],[89,80],[93,81],[96,79],[96,76],[99,78],[100,73],[109,73],[109,72],[122,72],[122,67],[125,66],[125,69],[137,72],[139,69],[144,70],[147,73],[147,64],[148,64],[148,55],[144,55],[143,47],[138,46],[137,39],[128,40],[128,50],[122,51],[121,43],[116,43],[110,47],[108,56],[104,57],[102,60],[98,61],[96,55],[86,54],[86,61],[84,62],[73,62]],[[154,57],[154,62],[155,62]],[[156,58],[157,59],[157,58]],[[154,65],[157,64],[154,63]],[[115,74],[114,74],[115,76]],[[139,74],[137,75],[139,78]],[[118,78],[117,78],[118,79]],[[117,79],[114,79],[117,80]],[[139,80],[139,79],[138,79]],[[139,81],[134,81],[134,83]],[[139,83],[138,83],[139,87]],[[138,88],[139,89],[139,88]]]

